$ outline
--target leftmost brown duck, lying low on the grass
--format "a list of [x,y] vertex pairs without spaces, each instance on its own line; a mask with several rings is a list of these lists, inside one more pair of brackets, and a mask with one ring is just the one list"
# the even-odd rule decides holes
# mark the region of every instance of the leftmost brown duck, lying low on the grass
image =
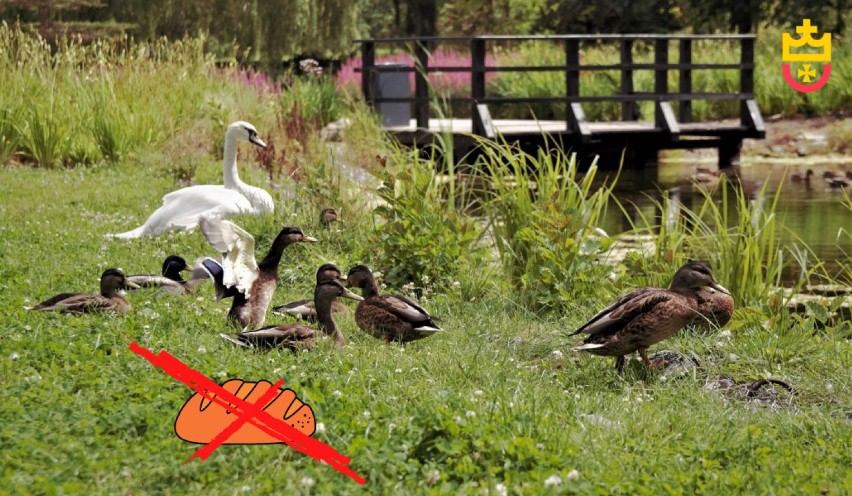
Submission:
[[128,281],[121,269],[107,269],[101,275],[101,294],[62,293],[47,299],[27,310],[51,311],[61,313],[118,313],[130,311],[130,302],[118,294],[122,288],[138,288]]

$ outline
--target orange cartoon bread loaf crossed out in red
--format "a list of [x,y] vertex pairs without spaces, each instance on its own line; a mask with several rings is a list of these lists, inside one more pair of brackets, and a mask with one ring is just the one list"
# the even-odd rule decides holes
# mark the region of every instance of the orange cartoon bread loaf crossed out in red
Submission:
[[[251,404],[254,404],[271,387],[272,384],[268,381],[250,382],[240,379],[231,379],[222,384],[225,391]],[[300,401],[292,389],[280,390],[278,395],[263,407],[263,410],[306,436],[312,435],[316,429],[313,410]],[[195,393],[178,413],[175,420],[175,434],[190,443],[207,444],[238,418],[232,411],[215,401]],[[250,420],[244,423],[223,444],[283,442],[257,427],[256,422],[256,420]]]

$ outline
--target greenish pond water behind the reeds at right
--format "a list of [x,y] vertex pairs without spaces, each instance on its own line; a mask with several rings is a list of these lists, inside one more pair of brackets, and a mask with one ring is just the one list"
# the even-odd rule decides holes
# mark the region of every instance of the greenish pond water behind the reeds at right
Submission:
[[[840,264],[852,256],[852,245],[848,237],[838,237],[840,229],[852,232],[852,211],[843,204],[841,189],[831,188],[822,178],[824,171],[845,173],[852,170],[852,158],[831,162],[805,162],[801,160],[776,160],[773,162],[747,162],[729,170],[728,175],[736,175],[746,192],[756,193],[764,182],[768,182],[770,196],[779,186],[781,197],[776,210],[779,216],[778,236],[785,245],[799,243],[796,237],[804,241],[816,257],[826,262],[827,268],[834,274]],[[659,217],[654,200],[662,199],[662,191],[678,188],[680,200],[689,209],[699,208],[702,202],[698,192],[696,169],[698,167],[716,170],[715,164],[697,163],[684,160],[663,160],[656,170],[643,172],[622,171],[615,186],[615,197],[622,203],[633,203],[647,218]],[[794,182],[790,174],[804,173],[807,169],[815,175],[809,182]],[[786,173],[786,176],[785,176]],[[603,177],[606,173],[601,172]],[[712,187],[713,178],[708,174],[698,174],[707,186]],[[847,188],[852,194],[852,188]],[[629,229],[624,214],[618,208],[607,212],[603,228],[610,233],[624,232]],[[789,259],[785,255],[785,259]],[[784,278],[786,282],[795,279],[797,270],[788,267]]]

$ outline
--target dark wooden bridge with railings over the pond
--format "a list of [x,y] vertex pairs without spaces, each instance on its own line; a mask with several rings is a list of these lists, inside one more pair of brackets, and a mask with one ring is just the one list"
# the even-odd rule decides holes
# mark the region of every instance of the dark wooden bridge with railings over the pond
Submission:
[[[765,136],[763,119],[754,96],[754,35],[554,35],[554,36],[473,36],[473,37],[409,37],[359,40],[362,56],[361,89],[365,99],[381,114],[385,129],[403,144],[427,145],[437,133],[451,133],[454,153],[458,157],[476,153],[474,136],[502,138],[518,143],[525,150],[541,147],[546,142],[560,144],[576,151],[581,159],[601,155],[602,167],[617,167],[622,151],[625,165],[641,168],[655,166],[657,154],[663,149],[717,148],[720,168],[734,165],[745,138]],[[489,50],[517,47],[519,43],[551,43],[561,45],[564,62],[551,65],[489,64]],[[595,63],[586,60],[582,49],[615,45],[617,63]],[[674,45],[674,46],[673,46]],[[435,54],[441,48],[453,46],[469,55],[469,64],[437,65]],[[694,62],[693,48],[713,51],[713,58],[724,55],[734,60]],[[460,47],[460,48],[457,48]],[[677,61],[670,60],[670,53]],[[377,64],[377,54],[407,54],[410,62]],[[634,60],[639,59],[639,60]],[[467,62],[467,58],[465,62]],[[736,71],[738,91],[693,91],[693,76],[698,71]],[[606,71],[617,78],[617,89],[601,94],[600,85],[589,77],[591,71]],[[653,73],[653,90],[637,91],[634,79],[640,71]],[[677,91],[670,91],[677,75]],[[562,91],[540,96],[504,97],[489,94],[486,78],[497,72],[555,73],[564,75]],[[402,88],[388,75],[402,73]],[[409,89],[409,74],[414,74],[413,92]],[[442,95],[435,90],[436,74],[464,73],[470,81],[469,95]],[[540,76],[539,76],[540,77]],[[397,85],[399,86],[399,85]],[[648,86],[647,84],[645,86]],[[650,88],[648,88],[650,89]],[[437,94],[436,94],[437,93]],[[693,103],[696,101],[730,101],[739,104],[739,119],[696,122]],[[435,115],[443,105],[441,116]],[[518,107],[526,115],[517,118]],[[538,108],[556,109],[556,119],[537,120],[530,111]],[[545,107],[542,107],[544,105]],[[616,108],[616,117],[609,120],[589,120],[587,108],[609,105]],[[640,109],[653,106],[653,116],[643,119]],[[492,118],[505,115],[502,110],[513,106],[513,118]],[[457,115],[453,115],[453,112]],[[611,115],[613,112],[609,112]],[[647,112],[650,114],[651,112]],[[389,115],[395,114],[395,115]],[[449,114],[449,115],[447,115]],[[401,117],[400,117],[401,115]],[[394,119],[396,122],[393,122]]]

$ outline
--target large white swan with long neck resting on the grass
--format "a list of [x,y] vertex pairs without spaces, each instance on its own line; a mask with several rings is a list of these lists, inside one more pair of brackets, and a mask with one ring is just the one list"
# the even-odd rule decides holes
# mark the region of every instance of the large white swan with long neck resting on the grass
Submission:
[[202,216],[221,219],[234,214],[271,213],[275,210],[272,196],[240,180],[237,172],[239,142],[266,148],[254,126],[243,121],[231,124],[225,134],[224,185],[206,184],[172,191],[163,197],[163,206],[154,211],[144,224],[132,231],[107,234],[107,237],[129,239],[156,236],[170,229],[193,229]]

